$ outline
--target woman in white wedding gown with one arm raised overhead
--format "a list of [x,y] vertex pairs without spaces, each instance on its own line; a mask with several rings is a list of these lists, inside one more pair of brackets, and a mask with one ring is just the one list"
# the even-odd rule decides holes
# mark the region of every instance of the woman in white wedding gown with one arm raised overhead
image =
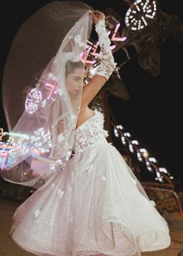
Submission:
[[[49,116],[54,174],[16,209],[10,234],[16,244],[36,255],[137,256],[140,251],[164,249],[170,245],[166,221],[119,151],[105,139],[102,112],[88,108],[116,66],[104,14],[88,15],[98,33],[100,67],[83,86],[85,70],[75,51],[62,54],[65,87],[57,87]],[[59,75],[55,81],[60,84]],[[71,151],[64,153],[72,143],[71,157]]]

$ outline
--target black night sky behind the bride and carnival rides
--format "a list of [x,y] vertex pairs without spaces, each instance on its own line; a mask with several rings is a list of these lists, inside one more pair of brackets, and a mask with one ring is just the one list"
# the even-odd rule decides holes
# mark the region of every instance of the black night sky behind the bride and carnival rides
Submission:
[[[29,16],[51,1],[1,1],[0,3],[0,86],[6,57],[13,36]],[[115,0],[81,1],[94,9],[115,8]],[[183,20],[181,1],[160,0],[161,9]],[[118,124],[122,124],[133,139],[156,157],[160,167],[167,168],[175,179],[183,183],[182,175],[182,58],[183,46],[169,37],[160,47],[161,74],[153,77],[144,71],[136,59],[120,71],[129,99],[110,96],[109,104]],[[119,63],[120,64],[120,63]],[[12,93],[15,88],[12,88]],[[2,91],[2,90],[1,90]],[[8,130],[0,97],[0,127]]]

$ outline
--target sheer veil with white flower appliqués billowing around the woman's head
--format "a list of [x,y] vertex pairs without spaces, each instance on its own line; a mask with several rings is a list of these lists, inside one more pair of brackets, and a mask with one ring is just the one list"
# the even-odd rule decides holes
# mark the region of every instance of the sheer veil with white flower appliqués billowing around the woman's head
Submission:
[[[13,40],[3,80],[12,144],[6,168],[1,171],[5,180],[37,187],[71,157],[85,73],[81,57],[92,28],[90,9],[82,2],[52,2],[30,17]],[[54,57],[50,57],[52,54]],[[50,62],[37,75],[48,59]],[[71,74],[80,82],[73,78],[71,84]],[[22,103],[17,97],[12,102],[13,94],[9,94],[16,86],[19,92],[29,87],[25,110],[17,123]]]

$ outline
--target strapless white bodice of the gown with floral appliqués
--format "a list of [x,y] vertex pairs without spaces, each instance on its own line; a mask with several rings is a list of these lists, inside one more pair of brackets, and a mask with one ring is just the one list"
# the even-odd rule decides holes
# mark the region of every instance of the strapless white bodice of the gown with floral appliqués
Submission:
[[82,123],[75,130],[74,134],[74,153],[81,154],[88,147],[94,147],[95,144],[108,143],[105,137],[108,137],[108,131],[104,130],[104,115],[97,109],[95,115]]

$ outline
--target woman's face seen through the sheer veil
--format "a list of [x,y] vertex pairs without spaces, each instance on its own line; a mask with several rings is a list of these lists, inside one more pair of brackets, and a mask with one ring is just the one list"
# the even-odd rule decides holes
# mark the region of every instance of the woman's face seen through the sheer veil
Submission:
[[83,87],[83,79],[85,77],[85,71],[83,68],[75,68],[74,73],[67,74],[66,88],[67,92],[71,95],[76,95]]

